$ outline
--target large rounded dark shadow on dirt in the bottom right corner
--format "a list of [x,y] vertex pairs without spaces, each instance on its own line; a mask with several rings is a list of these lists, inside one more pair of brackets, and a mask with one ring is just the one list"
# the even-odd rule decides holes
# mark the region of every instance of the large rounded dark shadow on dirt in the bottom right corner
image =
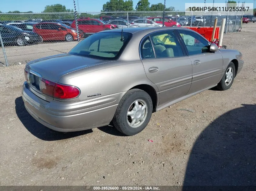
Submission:
[[243,104],[204,129],[191,150],[183,190],[189,189],[186,186],[256,186],[255,114],[256,105]]

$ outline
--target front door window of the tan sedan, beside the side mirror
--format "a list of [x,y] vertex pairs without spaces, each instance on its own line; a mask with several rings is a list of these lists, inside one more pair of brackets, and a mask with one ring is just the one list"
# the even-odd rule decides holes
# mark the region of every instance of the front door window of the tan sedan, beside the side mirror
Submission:
[[200,34],[188,30],[178,30],[178,32],[188,49],[189,55],[209,52],[209,43]]

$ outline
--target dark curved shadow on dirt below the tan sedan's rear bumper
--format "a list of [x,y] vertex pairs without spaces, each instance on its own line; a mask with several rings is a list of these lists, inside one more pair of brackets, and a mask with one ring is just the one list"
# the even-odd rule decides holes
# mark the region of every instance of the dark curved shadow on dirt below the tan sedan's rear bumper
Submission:
[[44,141],[56,141],[56,140],[62,140],[72,137],[77,137],[80,135],[85,135],[88,133],[93,132],[92,129],[88,129],[85,131],[76,131],[76,132],[58,132],[54,131],[52,129],[49,129],[48,127],[45,127],[41,123],[39,123],[37,120],[35,120],[25,109],[24,102],[22,100],[22,97],[18,97],[15,99],[15,111],[24,125],[24,127],[34,136],[37,138],[40,138]]

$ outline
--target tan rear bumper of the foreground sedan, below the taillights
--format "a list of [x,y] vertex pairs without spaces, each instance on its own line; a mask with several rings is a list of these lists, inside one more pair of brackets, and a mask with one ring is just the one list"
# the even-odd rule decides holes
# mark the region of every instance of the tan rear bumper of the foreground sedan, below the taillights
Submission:
[[33,94],[26,82],[22,88],[22,99],[28,113],[44,126],[60,132],[81,131],[108,125],[123,94],[77,102],[48,102]]

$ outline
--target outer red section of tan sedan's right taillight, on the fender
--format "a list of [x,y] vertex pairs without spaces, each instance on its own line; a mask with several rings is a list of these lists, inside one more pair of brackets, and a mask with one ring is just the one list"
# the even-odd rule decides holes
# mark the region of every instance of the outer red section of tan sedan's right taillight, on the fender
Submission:
[[71,99],[77,97],[79,94],[80,91],[74,86],[56,84],[53,92],[53,97],[59,99]]

